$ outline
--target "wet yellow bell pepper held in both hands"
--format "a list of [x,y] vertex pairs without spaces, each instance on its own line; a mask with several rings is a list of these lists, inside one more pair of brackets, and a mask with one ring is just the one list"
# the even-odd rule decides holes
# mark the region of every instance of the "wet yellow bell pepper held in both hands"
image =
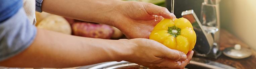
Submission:
[[192,24],[186,18],[175,20],[164,18],[156,24],[149,39],[187,54],[196,44],[196,33]]

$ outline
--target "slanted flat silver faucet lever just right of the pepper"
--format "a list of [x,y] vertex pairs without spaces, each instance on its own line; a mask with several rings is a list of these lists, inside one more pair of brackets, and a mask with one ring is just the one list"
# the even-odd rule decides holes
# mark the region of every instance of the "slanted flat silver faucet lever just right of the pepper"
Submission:
[[205,31],[194,10],[183,11],[182,17],[187,18],[192,23],[196,32],[197,41],[194,50],[200,54],[209,54],[214,43],[212,34]]

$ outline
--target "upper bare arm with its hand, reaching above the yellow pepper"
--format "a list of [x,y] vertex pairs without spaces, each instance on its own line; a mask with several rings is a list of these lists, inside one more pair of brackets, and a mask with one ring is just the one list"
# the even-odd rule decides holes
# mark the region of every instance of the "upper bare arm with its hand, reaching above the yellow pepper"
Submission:
[[[175,18],[175,15],[165,7],[121,0],[44,0],[42,10],[60,16],[111,25],[120,29],[129,39],[149,38],[153,27],[163,17]],[[160,16],[158,21],[154,20],[153,15]]]

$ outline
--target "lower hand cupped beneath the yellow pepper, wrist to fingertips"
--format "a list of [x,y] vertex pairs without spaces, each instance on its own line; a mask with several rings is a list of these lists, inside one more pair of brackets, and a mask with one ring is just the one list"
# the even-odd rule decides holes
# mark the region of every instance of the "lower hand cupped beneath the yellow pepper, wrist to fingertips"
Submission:
[[124,41],[126,44],[125,46],[120,46],[122,48],[118,48],[118,53],[123,55],[120,57],[122,60],[137,63],[150,69],[183,69],[194,53],[194,51],[190,51],[185,55],[183,52],[169,49],[161,43],[149,39],[139,38],[120,41]]

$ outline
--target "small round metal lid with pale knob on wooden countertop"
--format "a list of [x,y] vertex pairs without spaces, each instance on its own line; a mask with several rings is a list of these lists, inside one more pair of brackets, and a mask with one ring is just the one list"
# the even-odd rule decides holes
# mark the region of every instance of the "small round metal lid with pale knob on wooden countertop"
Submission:
[[241,45],[236,44],[235,47],[226,48],[223,51],[223,54],[227,57],[235,58],[235,59],[243,59],[250,57],[252,55],[251,50],[247,48],[242,48]]

